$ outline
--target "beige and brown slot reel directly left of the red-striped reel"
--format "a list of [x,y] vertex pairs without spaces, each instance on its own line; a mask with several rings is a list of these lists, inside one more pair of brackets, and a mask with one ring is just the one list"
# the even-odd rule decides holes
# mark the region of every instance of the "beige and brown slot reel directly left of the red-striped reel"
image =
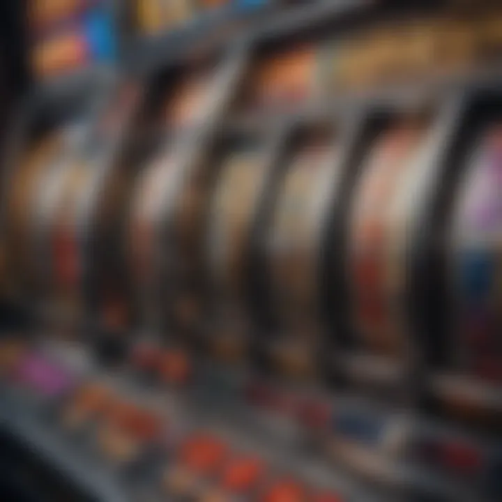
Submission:
[[310,379],[319,370],[319,349],[326,336],[319,322],[321,248],[331,197],[340,181],[338,139],[331,124],[303,124],[291,131],[263,234],[277,320],[268,357],[289,377]]

